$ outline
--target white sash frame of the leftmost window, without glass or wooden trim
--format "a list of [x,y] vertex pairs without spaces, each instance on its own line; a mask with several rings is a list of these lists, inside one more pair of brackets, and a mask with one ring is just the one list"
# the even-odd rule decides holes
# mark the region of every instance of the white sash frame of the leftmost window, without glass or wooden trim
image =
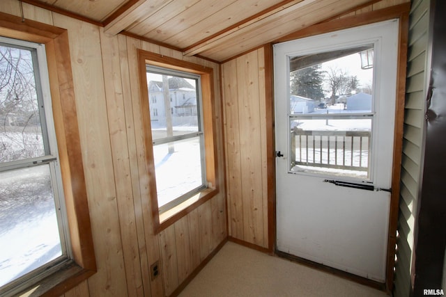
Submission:
[[47,71],[47,58],[45,54],[45,45],[36,42],[29,42],[24,40],[17,40],[12,38],[5,38],[0,36],[0,45],[3,47],[10,47],[15,49],[23,49],[30,51],[33,75],[36,81],[36,95],[38,103],[38,113],[40,115],[40,129],[43,137],[44,152],[42,156],[21,158],[15,161],[6,161],[0,164],[0,172],[10,172],[13,170],[20,170],[24,168],[35,168],[38,166],[47,165],[49,169],[49,176],[52,183],[52,193],[54,196],[54,206],[59,211],[56,211],[59,243],[61,244],[61,256],[51,260],[38,268],[29,271],[28,273],[11,280],[3,285],[1,293],[13,294],[20,291],[23,284],[28,282],[38,281],[45,278],[58,268],[63,267],[72,259],[70,248],[69,230],[66,218],[66,207],[64,202],[63,189],[61,188],[62,176],[59,166],[59,152],[57,150],[56,132],[54,129],[54,120],[51,109],[51,97],[49,96],[49,78]]

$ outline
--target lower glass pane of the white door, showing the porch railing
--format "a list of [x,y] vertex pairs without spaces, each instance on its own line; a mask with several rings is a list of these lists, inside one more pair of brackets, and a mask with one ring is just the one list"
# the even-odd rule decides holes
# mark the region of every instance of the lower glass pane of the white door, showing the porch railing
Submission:
[[369,179],[371,116],[293,118],[290,127],[291,171]]

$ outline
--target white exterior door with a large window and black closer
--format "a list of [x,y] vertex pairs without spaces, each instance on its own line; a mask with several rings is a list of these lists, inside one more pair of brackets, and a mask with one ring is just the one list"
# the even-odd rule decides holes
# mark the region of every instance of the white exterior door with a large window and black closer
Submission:
[[[398,29],[392,20],[274,48],[277,249],[378,282],[387,259]],[[361,58],[369,59],[364,69]]]

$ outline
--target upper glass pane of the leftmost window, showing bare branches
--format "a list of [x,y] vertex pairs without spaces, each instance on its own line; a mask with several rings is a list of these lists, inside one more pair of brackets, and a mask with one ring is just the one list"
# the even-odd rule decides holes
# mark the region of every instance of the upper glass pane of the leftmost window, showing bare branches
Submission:
[[0,163],[45,155],[33,58],[0,44]]

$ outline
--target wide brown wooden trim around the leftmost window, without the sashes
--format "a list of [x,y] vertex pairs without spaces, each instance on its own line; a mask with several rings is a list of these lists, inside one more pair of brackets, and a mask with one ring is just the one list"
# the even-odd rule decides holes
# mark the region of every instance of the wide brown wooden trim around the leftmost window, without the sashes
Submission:
[[56,132],[62,187],[72,250],[72,261],[43,280],[24,284],[22,294],[59,296],[89,278],[96,271],[93,236],[88,200],[75,94],[72,82],[68,31],[48,24],[0,13],[0,35],[45,45],[49,90]]

